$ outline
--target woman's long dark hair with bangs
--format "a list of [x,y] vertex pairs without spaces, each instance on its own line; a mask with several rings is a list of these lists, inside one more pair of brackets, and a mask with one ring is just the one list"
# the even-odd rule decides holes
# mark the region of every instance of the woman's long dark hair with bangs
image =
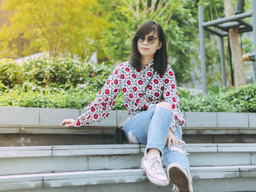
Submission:
[[165,33],[159,23],[154,20],[148,20],[143,23],[135,33],[135,37],[132,40],[132,52],[129,55],[130,64],[139,71],[141,70],[141,61],[140,61],[140,53],[138,50],[138,38],[140,35],[149,34],[151,31],[156,32],[159,38],[159,42],[162,42],[162,47],[154,53],[154,70],[159,74],[165,74],[167,70],[167,50],[166,50],[166,41],[165,41]]

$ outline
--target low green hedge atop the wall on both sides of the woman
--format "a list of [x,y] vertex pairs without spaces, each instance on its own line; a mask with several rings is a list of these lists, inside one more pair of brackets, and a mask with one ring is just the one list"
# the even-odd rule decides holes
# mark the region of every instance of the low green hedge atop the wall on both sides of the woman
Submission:
[[[40,88],[26,83],[0,91],[0,106],[83,109],[99,90],[89,85],[67,89],[67,85]],[[256,112],[256,85],[233,88],[227,93],[209,91],[207,95],[192,96],[187,91],[179,91],[178,95],[181,110],[186,112]],[[125,110],[122,98],[123,94],[119,93],[112,110]]]

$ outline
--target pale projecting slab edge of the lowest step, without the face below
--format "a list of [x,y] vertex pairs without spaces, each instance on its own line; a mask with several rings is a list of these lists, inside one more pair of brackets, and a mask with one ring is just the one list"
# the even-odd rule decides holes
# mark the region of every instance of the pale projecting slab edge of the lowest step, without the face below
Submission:
[[[256,166],[192,167],[193,180],[254,178]],[[75,185],[138,183],[147,180],[143,169],[117,169],[0,176],[0,191]]]

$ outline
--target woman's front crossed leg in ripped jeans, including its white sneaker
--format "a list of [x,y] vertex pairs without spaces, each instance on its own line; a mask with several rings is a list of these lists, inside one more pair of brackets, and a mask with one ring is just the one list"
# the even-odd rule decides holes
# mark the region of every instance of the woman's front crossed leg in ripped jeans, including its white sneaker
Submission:
[[169,180],[162,169],[160,154],[163,154],[167,134],[172,120],[172,112],[167,107],[155,105],[146,112],[130,118],[124,124],[129,142],[146,144],[141,166],[148,180],[157,185],[168,185]]

